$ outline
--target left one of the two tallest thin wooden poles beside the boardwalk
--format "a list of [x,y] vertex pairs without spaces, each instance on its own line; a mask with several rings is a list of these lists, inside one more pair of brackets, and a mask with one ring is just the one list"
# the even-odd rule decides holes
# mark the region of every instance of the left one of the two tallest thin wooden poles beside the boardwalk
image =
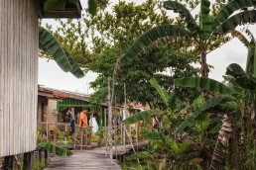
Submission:
[[108,78],[108,143],[109,143],[109,158],[112,163],[112,102],[111,102],[111,78]]

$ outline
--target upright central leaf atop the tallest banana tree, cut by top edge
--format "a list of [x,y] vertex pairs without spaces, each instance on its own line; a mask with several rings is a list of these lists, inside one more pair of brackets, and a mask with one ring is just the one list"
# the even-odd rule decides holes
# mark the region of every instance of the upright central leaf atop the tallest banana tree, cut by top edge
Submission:
[[208,0],[201,0],[200,1],[200,33],[199,37],[201,40],[207,40],[212,32],[212,24],[211,24],[211,18],[209,15],[209,6],[210,2]]

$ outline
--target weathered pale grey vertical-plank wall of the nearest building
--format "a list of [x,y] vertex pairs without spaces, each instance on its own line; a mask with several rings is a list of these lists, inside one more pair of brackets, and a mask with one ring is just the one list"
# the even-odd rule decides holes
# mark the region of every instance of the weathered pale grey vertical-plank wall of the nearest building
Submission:
[[0,157],[36,148],[37,3],[0,0]]

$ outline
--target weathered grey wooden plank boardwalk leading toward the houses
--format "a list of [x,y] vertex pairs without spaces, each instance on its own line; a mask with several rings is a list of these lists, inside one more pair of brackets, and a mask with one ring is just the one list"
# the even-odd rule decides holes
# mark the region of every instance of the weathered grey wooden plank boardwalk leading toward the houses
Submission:
[[[145,143],[139,143],[139,147],[147,145]],[[123,157],[126,153],[131,152],[132,146],[126,144],[125,146],[117,146],[117,152],[113,147],[113,157]],[[118,160],[113,159],[112,163],[108,155],[106,155],[105,147],[97,147],[90,150],[73,150],[72,155],[69,157],[52,157],[50,165],[46,170],[120,170],[121,166],[118,164]]]

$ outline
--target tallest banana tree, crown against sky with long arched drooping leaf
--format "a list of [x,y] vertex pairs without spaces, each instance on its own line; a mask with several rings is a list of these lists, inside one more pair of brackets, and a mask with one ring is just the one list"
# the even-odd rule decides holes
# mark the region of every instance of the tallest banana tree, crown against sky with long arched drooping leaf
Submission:
[[[252,24],[256,22],[256,10],[250,7],[256,7],[255,0],[231,0],[228,1],[217,14],[215,8],[212,8],[209,0],[200,1],[199,20],[192,17],[191,12],[178,1],[164,1],[164,7],[167,10],[173,10],[179,13],[185,19],[187,25],[181,27],[178,25],[167,24],[157,26],[141,35],[130,48],[121,56],[122,60],[133,59],[140,52],[145,51],[153,43],[162,42],[189,42],[183,43],[182,48],[189,48],[201,58],[201,76],[208,76],[208,67],[206,64],[206,55],[212,49],[218,47],[221,43],[227,42],[227,34],[234,31],[239,25]],[[220,37],[222,36],[222,37]],[[221,39],[224,40],[221,42]],[[175,41],[174,41],[175,40]],[[120,61],[120,59],[119,59]],[[116,66],[118,69],[119,67]],[[116,71],[118,72],[118,71]]]

